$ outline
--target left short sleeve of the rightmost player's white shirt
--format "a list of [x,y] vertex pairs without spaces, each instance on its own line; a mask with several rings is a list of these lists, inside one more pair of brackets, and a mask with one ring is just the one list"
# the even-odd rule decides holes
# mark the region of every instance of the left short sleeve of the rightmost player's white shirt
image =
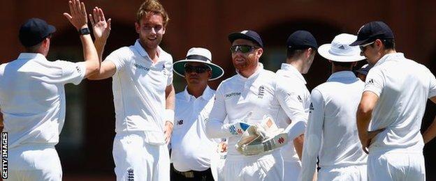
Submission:
[[384,87],[384,78],[382,70],[379,68],[372,68],[368,72],[368,76],[365,81],[365,89],[363,91],[371,91],[380,97]]

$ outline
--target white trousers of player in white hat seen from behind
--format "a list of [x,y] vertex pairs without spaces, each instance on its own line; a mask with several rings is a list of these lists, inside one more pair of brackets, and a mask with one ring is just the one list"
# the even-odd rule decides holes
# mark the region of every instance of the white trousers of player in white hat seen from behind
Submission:
[[318,181],[367,181],[366,164],[322,168],[318,172]]

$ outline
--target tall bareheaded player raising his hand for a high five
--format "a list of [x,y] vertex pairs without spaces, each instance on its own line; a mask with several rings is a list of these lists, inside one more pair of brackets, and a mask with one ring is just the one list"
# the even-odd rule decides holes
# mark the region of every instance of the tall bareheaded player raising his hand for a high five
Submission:
[[[110,24],[103,10],[95,9],[91,18],[101,58]],[[138,40],[112,52],[91,77],[112,77],[117,132],[112,153],[117,180],[170,180],[166,143],[174,120],[173,58],[159,47],[168,19],[159,1],[144,1],[136,13]]]

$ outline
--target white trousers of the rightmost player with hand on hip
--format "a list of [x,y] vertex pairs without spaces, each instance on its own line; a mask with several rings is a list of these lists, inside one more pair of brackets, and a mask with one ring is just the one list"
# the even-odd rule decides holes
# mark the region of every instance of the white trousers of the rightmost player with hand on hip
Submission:
[[370,152],[368,180],[426,180],[424,156],[422,152]]

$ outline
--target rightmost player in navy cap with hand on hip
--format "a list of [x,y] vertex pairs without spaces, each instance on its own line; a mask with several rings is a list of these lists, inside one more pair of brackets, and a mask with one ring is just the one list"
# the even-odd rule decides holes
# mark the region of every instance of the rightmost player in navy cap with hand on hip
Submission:
[[[356,45],[374,65],[357,110],[359,139],[369,152],[368,179],[426,180],[423,145],[435,137],[435,121],[423,135],[420,129],[427,100],[436,102],[435,76],[395,51],[384,22],[363,25],[351,43]],[[370,131],[383,131],[368,132],[370,120]]]

